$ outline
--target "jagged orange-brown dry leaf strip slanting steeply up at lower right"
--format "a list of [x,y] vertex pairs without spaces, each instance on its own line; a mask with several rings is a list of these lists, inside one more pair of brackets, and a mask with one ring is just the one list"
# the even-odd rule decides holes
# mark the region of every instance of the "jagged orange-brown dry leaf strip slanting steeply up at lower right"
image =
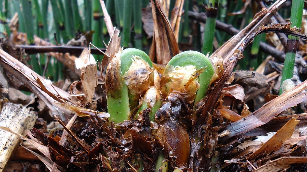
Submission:
[[277,133],[274,134],[264,145],[261,146],[257,151],[252,153],[247,159],[254,159],[258,155],[266,153],[266,155],[270,154],[272,151],[276,151],[279,149],[286,140],[288,140],[293,132],[294,128],[297,125],[299,120],[296,118],[291,118],[281,129],[278,130]]

